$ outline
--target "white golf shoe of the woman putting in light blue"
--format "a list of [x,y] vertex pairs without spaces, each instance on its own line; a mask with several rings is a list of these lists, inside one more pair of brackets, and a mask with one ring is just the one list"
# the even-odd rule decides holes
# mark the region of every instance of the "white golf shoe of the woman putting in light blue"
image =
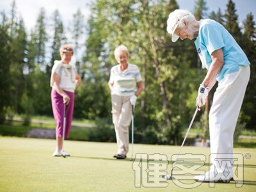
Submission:
[[[227,176],[226,176],[227,175]],[[218,173],[210,170],[209,172],[202,174],[202,175],[196,175],[194,177],[194,180],[197,182],[230,182],[230,180],[233,180],[233,173]]]

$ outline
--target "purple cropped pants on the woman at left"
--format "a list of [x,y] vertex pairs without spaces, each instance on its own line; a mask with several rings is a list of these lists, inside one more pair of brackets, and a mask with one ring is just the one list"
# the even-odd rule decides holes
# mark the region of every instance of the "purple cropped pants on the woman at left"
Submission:
[[[75,94],[72,92],[67,92],[67,95],[70,97],[70,102],[66,107],[66,121],[65,121],[65,138],[68,138],[69,132],[71,129],[71,123],[73,118],[74,111],[74,99]],[[56,126],[56,138],[63,137],[63,123],[64,123],[64,107],[63,97],[56,92],[56,90],[52,89],[51,92],[51,100],[52,100],[52,113],[57,124]]]

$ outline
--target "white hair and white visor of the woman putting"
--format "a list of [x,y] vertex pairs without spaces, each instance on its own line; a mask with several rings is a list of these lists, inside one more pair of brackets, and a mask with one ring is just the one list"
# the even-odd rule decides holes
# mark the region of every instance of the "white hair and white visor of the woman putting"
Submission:
[[175,10],[170,13],[167,20],[167,32],[172,34],[172,42],[176,42],[179,38],[179,36],[174,34],[174,31],[177,28],[184,27],[184,22],[182,22],[182,20],[186,20],[190,23],[196,19],[195,16],[187,10]]

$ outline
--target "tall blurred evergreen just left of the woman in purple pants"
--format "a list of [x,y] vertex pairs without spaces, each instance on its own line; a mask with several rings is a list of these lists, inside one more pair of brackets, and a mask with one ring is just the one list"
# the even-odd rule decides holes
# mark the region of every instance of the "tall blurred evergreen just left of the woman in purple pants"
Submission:
[[[45,52],[48,47],[48,38],[46,31],[46,17],[44,8],[40,9],[35,29],[31,32],[29,40],[29,66],[33,67],[33,102],[35,113],[38,115],[51,113],[50,78],[46,73],[47,61]],[[45,97],[47,95],[47,97]]]

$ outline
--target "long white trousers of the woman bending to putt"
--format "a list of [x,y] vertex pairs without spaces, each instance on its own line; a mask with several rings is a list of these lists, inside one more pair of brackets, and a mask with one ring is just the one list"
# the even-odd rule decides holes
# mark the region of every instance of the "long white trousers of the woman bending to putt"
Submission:
[[[233,136],[237,119],[250,79],[250,66],[240,66],[239,71],[225,75],[218,83],[209,113],[211,163],[217,172],[232,170]],[[228,170],[220,168],[220,159],[230,159]]]

